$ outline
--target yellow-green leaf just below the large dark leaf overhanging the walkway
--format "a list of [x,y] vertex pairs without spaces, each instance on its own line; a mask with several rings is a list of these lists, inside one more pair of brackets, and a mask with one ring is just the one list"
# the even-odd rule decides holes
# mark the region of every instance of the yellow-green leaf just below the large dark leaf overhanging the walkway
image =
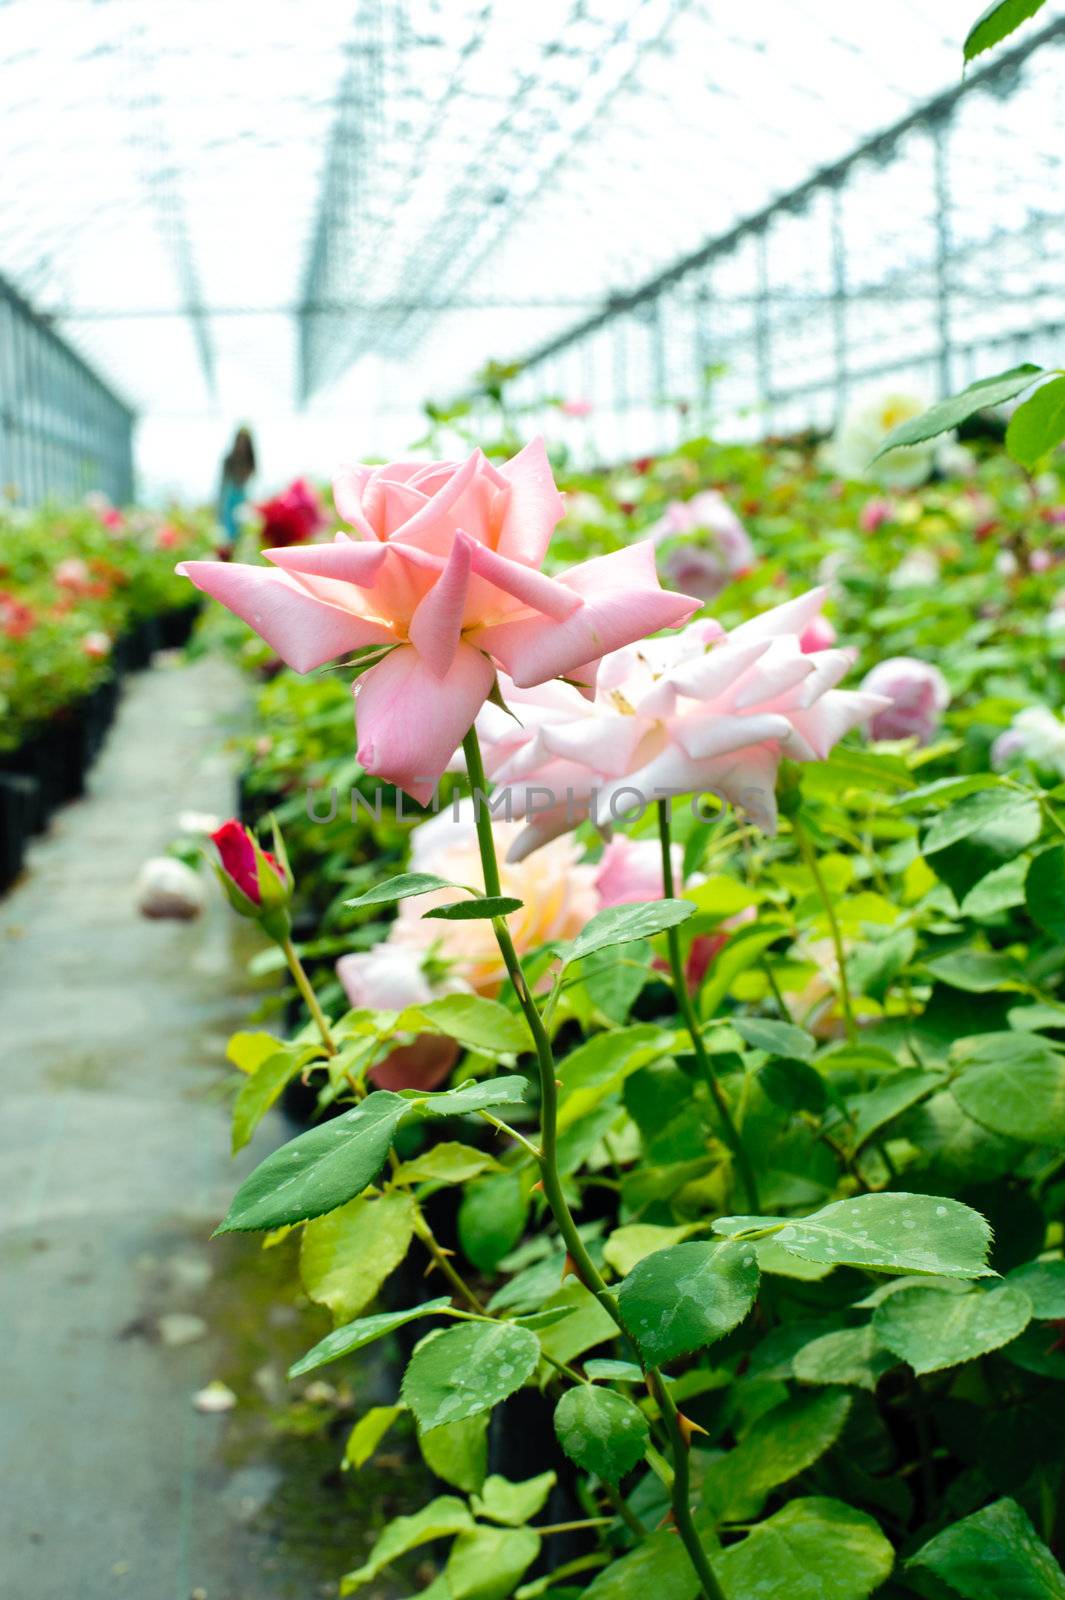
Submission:
[[369,1304],[414,1237],[413,1195],[360,1195],[304,1229],[299,1275],[312,1301],[334,1322],[350,1322]]

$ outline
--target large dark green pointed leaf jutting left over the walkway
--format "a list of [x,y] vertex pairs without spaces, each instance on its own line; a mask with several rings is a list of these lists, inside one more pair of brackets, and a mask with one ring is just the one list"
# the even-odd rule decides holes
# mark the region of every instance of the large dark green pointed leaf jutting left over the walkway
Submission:
[[309,1128],[245,1178],[216,1234],[305,1222],[361,1194],[381,1171],[411,1102],[377,1090],[353,1110]]

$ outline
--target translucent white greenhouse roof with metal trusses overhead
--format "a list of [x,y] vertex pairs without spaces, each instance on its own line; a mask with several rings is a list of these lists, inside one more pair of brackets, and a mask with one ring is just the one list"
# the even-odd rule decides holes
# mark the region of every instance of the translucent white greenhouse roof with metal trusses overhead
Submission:
[[0,274],[142,411],[409,418],[956,85],[977,10],[0,0]]

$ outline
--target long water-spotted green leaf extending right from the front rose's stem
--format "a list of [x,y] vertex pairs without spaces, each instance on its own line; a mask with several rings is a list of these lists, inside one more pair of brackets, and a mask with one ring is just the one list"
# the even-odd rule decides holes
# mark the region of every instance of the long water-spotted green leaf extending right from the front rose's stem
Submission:
[[987,1266],[991,1229],[979,1211],[940,1195],[854,1195],[801,1221],[726,1216],[713,1224],[715,1234],[726,1237],[756,1229],[772,1229],[774,1243],[790,1254],[836,1267],[995,1277]]

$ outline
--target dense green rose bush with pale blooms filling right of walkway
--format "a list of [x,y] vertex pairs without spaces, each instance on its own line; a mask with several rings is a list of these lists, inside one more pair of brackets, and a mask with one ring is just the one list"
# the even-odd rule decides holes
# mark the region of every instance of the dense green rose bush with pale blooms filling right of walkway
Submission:
[[[900,493],[868,528],[868,488],[785,448],[694,443],[582,477],[561,563],[704,488],[758,560],[712,621],[608,653],[593,696],[499,678],[513,715],[493,699],[477,725],[501,819],[481,808],[477,854],[449,819],[451,786],[491,787],[472,736],[467,776],[411,834],[369,814],[344,674],[262,688],[256,803],[278,802],[299,861],[291,954],[321,1022],[238,1035],[235,1128],[286,1077],[339,1115],[267,1157],[224,1226],[283,1232],[333,1315],[309,1325],[296,1394],[411,1322],[403,1379],[345,1462],[366,1494],[397,1448],[443,1478],[344,1592],[393,1565],[411,1589],[430,1542],[441,1597],[864,1600],[951,1589],[988,1541],[1003,1592],[1059,1582],[1065,814],[1046,755],[1017,746],[995,771],[991,746],[1039,709],[1022,728],[1055,749],[1065,496],[1044,482],[1033,515],[995,456],[977,483],[996,509],[980,541],[971,483]],[[899,584],[911,557],[939,586]],[[819,568],[832,590],[811,598]],[[808,637],[822,603],[835,648]],[[900,656],[935,662],[950,702],[932,693],[934,725],[884,749],[859,725],[891,707],[838,685]],[[609,794],[664,758],[672,805],[608,811],[608,838],[552,816],[550,842],[496,859],[540,821],[505,821],[504,776],[520,792],[561,768]],[[718,760],[755,774],[776,832],[721,784],[692,806]],[[329,821],[307,816],[309,774],[344,797]],[[587,891],[609,906],[544,914]],[[454,981],[464,962],[480,990]],[[400,1053],[427,1045],[414,1078]],[[518,1438],[537,1459],[507,1470]]]

